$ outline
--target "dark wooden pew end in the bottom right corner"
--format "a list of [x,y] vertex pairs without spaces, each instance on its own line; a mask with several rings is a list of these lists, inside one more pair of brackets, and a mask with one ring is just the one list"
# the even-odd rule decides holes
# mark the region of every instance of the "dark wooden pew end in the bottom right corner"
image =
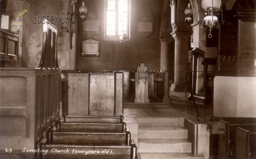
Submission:
[[236,158],[256,159],[256,127],[254,127],[252,130],[237,128]]

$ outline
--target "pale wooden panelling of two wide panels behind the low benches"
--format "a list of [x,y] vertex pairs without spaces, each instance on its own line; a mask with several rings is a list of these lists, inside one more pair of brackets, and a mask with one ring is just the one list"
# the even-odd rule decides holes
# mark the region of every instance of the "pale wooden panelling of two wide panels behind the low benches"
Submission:
[[[68,108],[66,115],[122,115],[122,72],[90,74],[81,71],[67,71],[67,74],[62,75],[62,85],[67,87],[68,92],[67,100],[65,97],[63,98],[63,110]],[[65,88],[62,90],[66,91]]]

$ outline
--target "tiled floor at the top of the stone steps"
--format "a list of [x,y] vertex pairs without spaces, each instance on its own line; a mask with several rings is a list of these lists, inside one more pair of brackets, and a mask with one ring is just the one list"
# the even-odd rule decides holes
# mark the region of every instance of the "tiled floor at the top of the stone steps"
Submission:
[[[187,94],[188,97],[189,94]],[[196,103],[201,117],[199,123],[209,121],[213,115],[212,105]],[[127,117],[187,117],[196,122],[196,110],[193,102],[187,101],[185,115],[185,92],[170,92],[169,103],[134,103],[124,101],[124,116]]]

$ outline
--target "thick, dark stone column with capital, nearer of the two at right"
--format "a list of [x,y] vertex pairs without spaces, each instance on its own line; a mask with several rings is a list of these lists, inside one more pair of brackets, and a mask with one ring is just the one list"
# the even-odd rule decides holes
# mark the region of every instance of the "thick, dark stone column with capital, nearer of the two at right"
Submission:
[[172,33],[172,37],[175,40],[175,66],[174,83],[172,84],[170,91],[185,92],[186,63],[191,34],[191,31],[175,31]]

